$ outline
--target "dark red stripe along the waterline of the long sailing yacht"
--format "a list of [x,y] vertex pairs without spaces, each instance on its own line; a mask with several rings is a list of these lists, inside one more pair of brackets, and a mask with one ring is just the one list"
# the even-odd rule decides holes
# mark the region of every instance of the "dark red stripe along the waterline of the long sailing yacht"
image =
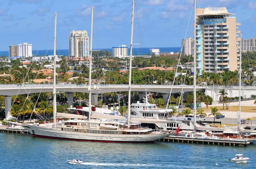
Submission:
[[104,143],[154,143],[154,141],[103,141],[103,140],[83,140],[83,139],[73,139],[73,138],[58,138],[58,137],[50,137],[43,135],[32,135],[33,137],[41,137],[41,138],[52,138],[59,140],[71,140],[71,141],[91,141],[91,142],[104,142]]

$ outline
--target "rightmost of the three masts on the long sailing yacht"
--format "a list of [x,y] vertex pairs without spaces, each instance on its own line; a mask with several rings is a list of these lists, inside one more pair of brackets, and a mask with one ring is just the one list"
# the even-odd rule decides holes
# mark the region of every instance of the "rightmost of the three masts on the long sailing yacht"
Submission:
[[132,14],[131,14],[131,46],[130,46],[130,65],[129,65],[129,92],[128,92],[128,127],[130,127],[130,118],[131,118],[131,59],[132,59],[133,23],[134,23],[134,0],[132,1]]

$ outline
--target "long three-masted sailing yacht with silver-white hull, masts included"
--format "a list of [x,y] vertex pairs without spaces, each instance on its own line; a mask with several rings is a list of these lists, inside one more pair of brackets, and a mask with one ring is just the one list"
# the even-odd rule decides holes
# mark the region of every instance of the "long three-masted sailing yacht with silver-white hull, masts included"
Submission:
[[[131,54],[132,56],[132,36],[133,36],[133,20],[134,20],[134,0],[132,1],[132,24],[131,24]],[[91,17],[91,35],[90,35],[90,78],[91,83],[91,64],[92,64],[92,37],[93,37],[93,8]],[[89,109],[89,115],[87,120],[81,120],[86,117],[82,115],[76,115],[73,120],[65,121],[64,124],[56,125],[56,117],[74,118],[71,114],[57,113],[56,112],[56,90],[55,90],[55,60],[56,60],[56,18],[57,12],[55,12],[55,29],[54,29],[54,83],[53,83],[53,118],[54,124],[48,126],[30,125],[24,123],[13,124],[20,125],[29,131],[32,136],[41,138],[55,138],[64,140],[75,141],[96,141],[96,142],[119,142],[119,143],[147,143],[158,141],[162,138],[168,137],[170,133],[163,133],[154,131],[151,128],[142,128],[140,123],[130,124],[130,115],[128,118],[128,124],[121,121],[113,121],[110,119],[101,120],[91,119],[91,109]],[[91,86],[91,84],[90,84]],[[89,105],[91,106],[91,88],[89,90]],[[131,64],[129,74],[129,104],[131,105]],[[128,114],[130,114],[130,110]],[[79,118],[79,119],[78,119]]]

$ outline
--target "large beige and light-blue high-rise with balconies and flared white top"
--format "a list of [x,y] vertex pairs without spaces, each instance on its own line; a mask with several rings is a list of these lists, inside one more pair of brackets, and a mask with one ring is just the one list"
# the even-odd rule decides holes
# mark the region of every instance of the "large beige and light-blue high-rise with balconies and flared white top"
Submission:
[[221,73],[239,68],[240,31],[236,17],[225,7],[197,8],[197,70]]

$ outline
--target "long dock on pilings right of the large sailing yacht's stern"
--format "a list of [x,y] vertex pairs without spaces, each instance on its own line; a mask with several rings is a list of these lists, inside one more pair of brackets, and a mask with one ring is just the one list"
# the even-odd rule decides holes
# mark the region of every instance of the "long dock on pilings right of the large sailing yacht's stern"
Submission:
[[224,145],[224,146],[247,146],[256,139],[239,139],[239,138],[200,138],[200,137],[186,137],[186,136],[169,136],[163,138],[161,141],[168,142],[180,142],[180,143],[195,143],[195,144],[213,144],[213,145]]

